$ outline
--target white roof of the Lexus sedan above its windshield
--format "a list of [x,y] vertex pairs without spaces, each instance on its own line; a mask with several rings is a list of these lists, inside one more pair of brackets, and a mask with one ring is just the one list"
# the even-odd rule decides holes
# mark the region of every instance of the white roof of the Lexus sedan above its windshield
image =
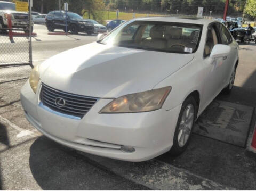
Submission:
[[138,21],[159,21],[159,22],[180,22],[180,23],[191,23],[191,24],[202,24],[208,25],[211,22],[217,22],[214,19],[205,19],[205,18],[198,18],[198,17],[190,17],[190,16],[163,16],[163,17],[145,17],[145,18],[138,18],[134,19]]

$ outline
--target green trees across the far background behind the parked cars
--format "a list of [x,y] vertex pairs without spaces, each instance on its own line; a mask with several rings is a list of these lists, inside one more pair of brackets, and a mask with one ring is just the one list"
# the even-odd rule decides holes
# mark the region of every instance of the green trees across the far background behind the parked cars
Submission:
[[[69,10],[85,17],[103,22],[106,10],[120,12],[144,12],[196,15],[198,6],[204,7],[204,15],[222,15],[226,0],[61,0],[68,2]],[[246,0],[230,0],[228,15],[242,15]],[[248,0],[246,13],[255,16],[256,0]],[[33,11],[49,13],[59,9],[59,0],[33,0]],[[107,16],[108,17],[108,16]]]

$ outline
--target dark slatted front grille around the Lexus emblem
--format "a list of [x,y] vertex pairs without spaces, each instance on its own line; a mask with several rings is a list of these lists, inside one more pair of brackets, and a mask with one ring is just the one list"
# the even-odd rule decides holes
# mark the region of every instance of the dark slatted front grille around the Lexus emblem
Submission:
[[[60,107],[56,104],[56,99],[65,99],[65,105]],[[82,95],[70,94],[67,92],[62,92],[51,88],[42,83],[40,99],[43,105],[49,107],[50,109],[73,115],[79,118],[83,118],[84,115],[91,109],[91,107],[97,102],[95,97],[87,97]]]

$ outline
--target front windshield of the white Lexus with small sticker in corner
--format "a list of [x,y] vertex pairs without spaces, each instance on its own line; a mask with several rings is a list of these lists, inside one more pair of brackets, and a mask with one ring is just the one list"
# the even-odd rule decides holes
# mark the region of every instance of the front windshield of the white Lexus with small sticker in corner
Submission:
[[134,21],[123,24],[98,43],[173,53],[194,53],[202,26],[178,22]]

